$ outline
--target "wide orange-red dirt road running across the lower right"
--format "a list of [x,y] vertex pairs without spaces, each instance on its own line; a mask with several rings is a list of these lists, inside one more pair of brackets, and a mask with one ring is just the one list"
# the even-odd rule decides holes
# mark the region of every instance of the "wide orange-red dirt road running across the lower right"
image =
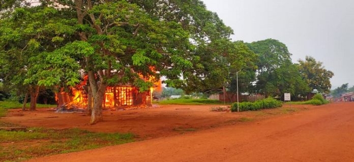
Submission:
[[354,161],[354,103],[31,161]]

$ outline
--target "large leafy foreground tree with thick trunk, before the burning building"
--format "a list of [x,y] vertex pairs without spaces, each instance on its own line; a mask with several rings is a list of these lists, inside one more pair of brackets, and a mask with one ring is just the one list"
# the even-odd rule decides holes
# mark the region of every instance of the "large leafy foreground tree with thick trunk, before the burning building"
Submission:
[[[178,22],[161,20],[126,1],[47,2],[76,13],[73,18],[77,20],[78,40],[43,55],[45,59],[61,56],[51,64],[61,64],[67,60],[65,57],[74,58],[84,69],[93,95],[91,123],[102,120],[102,101],[108,85],[131,83],[146,91],[153,83],[139,74],[145,78],[178,78],[182,70],[192,66],[188,31]],[[52,67],[45,69],[53,72]],[[61,81],[55,73],[47,74],[50,76],[40,76],[40,84]]]

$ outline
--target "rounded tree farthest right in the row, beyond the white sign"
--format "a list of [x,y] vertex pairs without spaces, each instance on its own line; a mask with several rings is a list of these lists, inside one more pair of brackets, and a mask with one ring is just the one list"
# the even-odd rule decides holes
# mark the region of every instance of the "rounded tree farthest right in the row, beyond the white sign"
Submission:
[[306,56],[305,60],[299,60],[299,69],[303,78],[310,86],[311,90],[317,89],[318,92],[329,93],[331,89],[330,79],[334,73],[326,70],[322,62],[316,61],[311,56]]

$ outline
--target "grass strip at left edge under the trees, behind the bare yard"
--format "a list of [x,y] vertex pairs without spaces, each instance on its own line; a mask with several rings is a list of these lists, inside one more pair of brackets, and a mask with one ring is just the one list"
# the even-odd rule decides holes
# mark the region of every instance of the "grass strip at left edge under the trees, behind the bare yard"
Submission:
[[[21,109],[21,103],[18,102],[10,102],[10,101],[0,101],[0,117],[5,117],[8,109]],[[26,108],[30,107],[30,103],[26,104]],[[56,105],[44,105],[37,104],[37,108],[55,108]]]

